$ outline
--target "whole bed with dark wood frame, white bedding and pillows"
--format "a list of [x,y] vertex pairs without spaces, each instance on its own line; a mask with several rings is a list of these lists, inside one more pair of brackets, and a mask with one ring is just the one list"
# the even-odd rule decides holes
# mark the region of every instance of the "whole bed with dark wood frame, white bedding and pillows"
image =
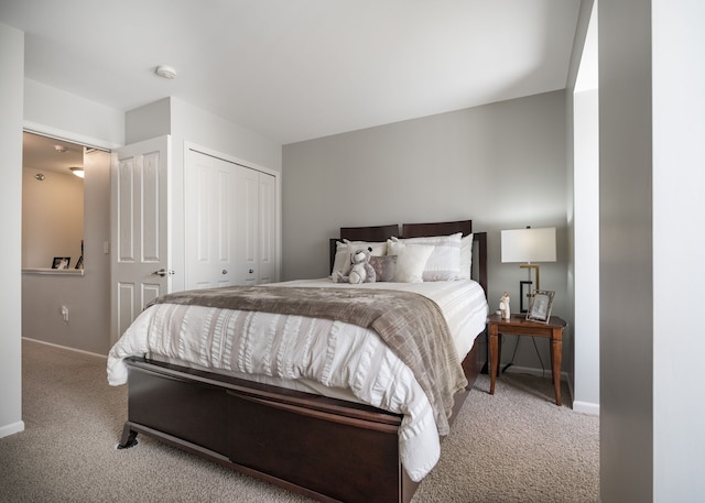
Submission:
[[[470,243],[473,275],[477,282],[340,285],[325,278],[254,287],[251,294],[257,299],[240,302],[257,302],[260,306],[262,292],[269,298],[284,289],[296,294],[290,297],[297,298],[297,304],[307,305],[313,304],[301,298],[306,298],[305,293],[314,289],[324,289],[324,295],[332,299],[343,296],[341,302],[351,302],[346,300],[345,295],[354,293],[361,304],[373,298],[373,304],[379,306],[383,304],[378,304],[378,297],[380,303],[386,297],[397,299],[397,296],[404,302],[404,296],[416,302],[417,297],[430,295],[434,302],[426,298],[427,304],[436,308],[444,306],[438,310],[443,310],[447,324],[438,325],[443,325],[443,330],[452,337],[444,346],[446,349],[433,347],[424,351],[444,354],[446,360],[457,359],[462,375],[447,378],[452,381],[448,387],[453,384],[456,387],[451,387],[445,394],[436,393],[434,386],[446,378],[445,372],[437,378],[433,371],[435,364],[419,371],[419,359],[398,357],[390,350],[394,342],[393,338],[387,339],[384,327],[369,329],[340,319],[317,319],[318,311],[299,316],[299,311],[293,310],[285,314],[260,313],[254,307],[242,308],[239,304],[235,308],[230,304],[223,307],[219,304],[224,302],[223,296],[216,298],[208,295],[210,292],[206,293],[213,299],[209,302],[218,304],[192,305],[191,293],[174,294],[166,302],[145,309],[134,321],[134,328],[130,327],[110,352],[109,381],[113,385],[127,381],[129,390],[128,420],[118,447],[137,445],[137,435],[143,434],[319,501],[409,502],[419,482],[435,464],[441,444],[438,434],[444,436],[448,433],[485,356],[480,349],[485,338],[478,336],[485,330],[487,315],[487,244],[485,233],[473,233],[470,220],[404,223],[401,233],[399,230],[397,225],[340,228],[339,238],[330,240],[332,269],[339,267],[336,259],[344,256],[339,251],[345,247],[338,243],[351,241],[349,247],[352,247],[359,242],[382,243],[399,237],[395,241],[402,244],[398,245],[419,251],[427,248],[424,247],[426,237],[462,237],[463,253],[468,250],[466,244]],[[435,250],[441,248],[438,244]],[[444,277],[445,273],[424,271],[423,274]],[[460,287],[470,289],[458,291]],[[471,310],[477,313],[470,321],[465,316],[468,309],[460,302],[478,296],[477,291],[471,289],[474,287],[479,289],[481,299],[473,300]],[[399,292],[391,295],[390,289]],[[182,300],[183,304],[178,304]],[[296,304],[296,300],[292,302]],[[199,299],[198,304],[203,300]],[[402,305],[399,306],[399,313],[403,313]],[[354,311],[356,308],[357,305],[338,310]],[[413,307],[412,310],[420,309]],[[451,311],[455,314],[448,316]],[[358,315],[348,313],[344,316]],[[401,318],[406,319],[405,316]],[[409,314],[406,325],[411,328],[408,329],[413,331],[415,324],[429,327],[425,319],[416,320],[411,316]],[[257,321],[260,317],[261,321]],[[232,331],[232,327],[246,324],[232,319],[246,318],[248,332],[256,326],[262,326],[264,330],[269,327],[274,332],[272,327],[276,326],[283,327],[281,332],[284,335],[276,331],[275,336],[267,339],[267,348],[258,347],[256,338],[250,337],[254,341],[252,346],[238,346],[248,349],[236,358],[236,343],[224,342],[225,336],[217,335],[220,332],[214,327],[220,322],[224,326],[229,324],[227,330]],[[308,326],[306,322],[311,318],[316,319]],[[189,342],[169,338],[175,332],[183,332],[186,321],[192,319],[200,320],[200,332],[208,335],[202,335],[200,341],[195,343],[193,359],[184,357],[184,346]],[[204,329],[206,325],[209,328]],[[326,328],[322,329],[319,325]],[[403,322],[394,319],[390,325],[397,327]],[[305,329],[302,328],[304,326]],[[296,327],[295,330],[292,327]],[[317,342],[312,341],[318,338],[312,333],[321,330],[328,333],[328,346],[323,345],[319,351],[314,351]],[[459,331],[471,332],[471,336],[466,333],[457,338]],[[444,337],[438,336],[437,339],[444,340]],[[240,339],[247,338],[246,335],[240,336]],[[285,352],[296,338],[310,345],[305,352],[300,351],[299,359],[290,358]],[[204,345],[205,339],[207,345]],[[425,339],[435,340],[436,337]],[[332,352],[332,346],[336,351],[339,346],[340,352]],[[447,350],[448,346],[455,350]],[[352,354],[356,357],[351,358]],[[361,361],[366,362],[365,365],[359,364]],[[335,365],[343,371],[332,371]],[[425,375],[426,371],[430,371],[430,378],[420,375]],[[429,380],[431,383],[426,382]],[[457,385],[460,380],[462,389]]]

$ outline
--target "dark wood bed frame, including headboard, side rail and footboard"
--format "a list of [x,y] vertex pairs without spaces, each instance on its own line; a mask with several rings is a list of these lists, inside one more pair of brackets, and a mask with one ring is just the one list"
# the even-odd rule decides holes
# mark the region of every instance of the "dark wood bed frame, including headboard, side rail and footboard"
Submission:
[[[454,232],[471,233],[471,221],[403,225],[401,236]],[[391,236],[400,236],[397,225],[340,229],[340,239]],[[474,242],[487,292],[486,234]],[[484,341],[476,338],[463,361],[469,384],[451,420],[477,378]],[[400,461],[400,414],[142,358],[126,362],[128,420],[118,448],[137,445],[141,433],[323,502],[409,502],[419,485]]]

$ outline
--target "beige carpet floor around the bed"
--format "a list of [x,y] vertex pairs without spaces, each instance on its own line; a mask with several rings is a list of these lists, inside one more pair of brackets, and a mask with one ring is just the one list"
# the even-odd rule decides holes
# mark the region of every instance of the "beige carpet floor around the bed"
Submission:
[[[143,435],[117,450],[127,386],[108,386],[105,363],[23,341],[25,430],[0,439],[0,501],[311,501]],[[503,374],[488,390],[481,375],[413,503],[596,502],[598,418],[557,407],[547,378]]]

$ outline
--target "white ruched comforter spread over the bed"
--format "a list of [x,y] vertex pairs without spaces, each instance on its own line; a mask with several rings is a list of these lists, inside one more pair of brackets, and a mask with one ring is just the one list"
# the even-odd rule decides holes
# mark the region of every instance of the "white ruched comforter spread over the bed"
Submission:
[[[279,283],[345,287],[328,278]],[[485,328],[487,303],[473,281],[365,283],[355,287],[415,292],[446,317],[460,360]],[[108,356],[108,382],[127,382],[127,357],[153,358],[404,415],[402,463],[421,480],[437,462],[440,438],[425,393],[409,368],[371,330],[341,321],[158,304],[145,309]]]

